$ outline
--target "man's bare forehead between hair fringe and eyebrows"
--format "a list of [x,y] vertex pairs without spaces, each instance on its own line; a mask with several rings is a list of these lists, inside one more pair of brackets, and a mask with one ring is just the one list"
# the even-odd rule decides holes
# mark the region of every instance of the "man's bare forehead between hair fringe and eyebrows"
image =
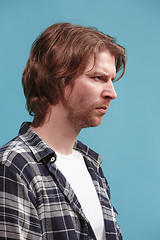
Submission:
[[84,73],[103,72],[116,75],[115,57],[109,51],[100,51],[92,55],[85,67]]

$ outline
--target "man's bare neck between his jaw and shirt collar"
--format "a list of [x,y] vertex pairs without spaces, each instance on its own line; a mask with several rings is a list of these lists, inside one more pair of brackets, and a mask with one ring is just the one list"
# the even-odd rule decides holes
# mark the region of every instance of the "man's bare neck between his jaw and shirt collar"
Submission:
[[80,129],[74,129],[66,120],[65,112],[60,111],[59,108],[57,105],[53,106],[44,124],[32,129],[51,149],[69,155],[72,153]]

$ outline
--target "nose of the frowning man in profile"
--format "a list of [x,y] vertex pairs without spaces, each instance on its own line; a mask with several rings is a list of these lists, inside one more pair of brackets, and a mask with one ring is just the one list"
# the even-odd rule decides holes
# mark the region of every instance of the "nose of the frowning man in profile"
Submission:
[[102,97],[103,98],[111,98],[111,99],[116,99],[117,98],[117,93],[116,90],[113,86],[113,82],[110,80],[109,82],[106,83],[105,88],[102,91]]

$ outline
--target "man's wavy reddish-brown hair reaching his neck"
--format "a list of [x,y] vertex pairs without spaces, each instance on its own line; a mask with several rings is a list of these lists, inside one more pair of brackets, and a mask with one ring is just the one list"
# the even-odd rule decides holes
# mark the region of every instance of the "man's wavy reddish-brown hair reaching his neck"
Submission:
[[63,99],[67,84],[74,84],[91,55],[108,50],[116,59],[116,72],[126,66],[125,49],[96,28],[57,23],[47,28],[32,44],[22,75],[22,85],[32,125],[43,124],[51,105]]

